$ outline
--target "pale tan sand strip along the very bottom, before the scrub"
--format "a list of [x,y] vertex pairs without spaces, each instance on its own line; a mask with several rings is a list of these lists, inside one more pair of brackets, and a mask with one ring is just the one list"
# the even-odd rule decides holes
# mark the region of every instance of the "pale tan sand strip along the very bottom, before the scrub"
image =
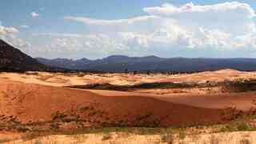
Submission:
[[[178,138],[177,135],[173,136],[171,141],[174,144],[230,144],[230,143],[255,143],[256,132],[233,132],[233,133],[219,133],[219,134],[198,134],[189,135],[186,138]],[[138,135],[138,134],[81,134],[81,135],[54,135],[42,138],[36,138],[30,141],[17,140],[14,142],[6,142],[6,144],[30,144],[30,143],[84,143],[84,144],[166,144],[163,135]]]

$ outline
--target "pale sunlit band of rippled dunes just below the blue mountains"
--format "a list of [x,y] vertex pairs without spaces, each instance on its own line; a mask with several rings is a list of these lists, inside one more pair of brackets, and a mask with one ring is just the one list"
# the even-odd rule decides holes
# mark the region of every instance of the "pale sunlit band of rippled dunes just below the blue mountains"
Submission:
[[256,78],[256,72],[218,70],[196,74],[50,74],[27,72],[26,74],[0,73],[0,78],[14,82],[35,83],[47,86],[85,85],[89,83],[110,83],[113,85],[134,85],[145,82],[223,82],[225,80]]

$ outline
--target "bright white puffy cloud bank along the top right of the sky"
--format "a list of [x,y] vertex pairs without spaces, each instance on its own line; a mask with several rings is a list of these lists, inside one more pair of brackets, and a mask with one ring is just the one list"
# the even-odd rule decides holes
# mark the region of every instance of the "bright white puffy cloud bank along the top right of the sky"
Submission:
[[[157,7],[146,7],[143,9],[146,13],[152,15],[161,15],[161,16],[174,16],[177,14],[203,14],[211,12],[212,14],[216,13],[224,13],[232,14],[234,13],[234,17],[246,17],[253,18],[255,16],[255,12],[250,5],[241,2],[223,2],[214,5],[206,5],[206,6],[196,6],[192,2],[187,3],[183,6],[174,6],[172,4],[164,4],[162,6]],[[214,16],[214,15],[211,15]],[[222,17],[223,15],[219,15]]]

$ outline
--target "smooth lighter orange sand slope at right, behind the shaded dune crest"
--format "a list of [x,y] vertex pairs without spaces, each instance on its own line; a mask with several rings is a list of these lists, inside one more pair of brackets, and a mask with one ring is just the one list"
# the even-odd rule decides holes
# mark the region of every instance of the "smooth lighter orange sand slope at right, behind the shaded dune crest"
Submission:
[[[253,101],[256,99],[255,92],[239,94],[151,94],[151,90],[142,90],[143,93],[141,93],[141,90],[136,90],[135,92],[122,92],[114,90],[89,91],[104,96],[141,96],[156,98],[166,102],[208,109],[224,109],[226,107],[235,106],[239,110],[250,110],[250,108],[255,107]],[[147,93],[145,93],[145,91],[147,91]]]

